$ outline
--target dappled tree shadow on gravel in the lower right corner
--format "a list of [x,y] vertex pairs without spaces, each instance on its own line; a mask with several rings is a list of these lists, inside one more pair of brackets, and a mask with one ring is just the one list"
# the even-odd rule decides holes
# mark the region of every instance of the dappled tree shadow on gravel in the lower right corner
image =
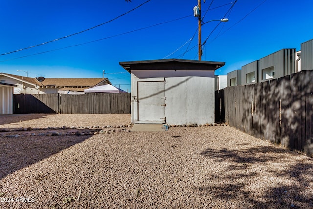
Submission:
[[[276,186],[268,185],[266,191],[262,191],[262,194],[265,195],[257,190],[253,192],[247,190],[251,186],[251,182],[246,182],[246,179],[253,180],[253,177],[260,177],[255,169],[250,169],[253,163],[266,166],[269,163],[281,163],[281,160],[289,161],[290,159],[284,155],[288,152],[290,151],[267,146],[245,150],[207,149],[201,155],[216,162],[228,161],[231,165],[225,169],[224,174],[226,175],[210,177],[215,180],[215,185],[195,187],[194,189],[203,196],[213,195],[222,201],[232,202],[233,200],[237,203],[239,201],[240,208],[313,208],[313,194],[305,192],[306,188],[312,186],[313,160],[311,160],[312,163],[308,163],[307,160],[306,162],[297,161],[279,171],[267,170],[271,173],[272,178],[287,177],[292,180],[292,184],[273,182],[276,183]],[[275,153],[277,157],[269,156],[269,153]],[[219,186],[220,184],[221,186]],[[253,182],[252,184],[257,185],[258,183]],[[204,182],[202,185],[207,184]]]

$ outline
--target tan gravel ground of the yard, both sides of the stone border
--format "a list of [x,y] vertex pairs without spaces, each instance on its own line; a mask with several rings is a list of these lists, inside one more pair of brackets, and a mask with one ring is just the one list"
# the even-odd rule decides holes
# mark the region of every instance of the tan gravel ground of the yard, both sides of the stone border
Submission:
[[[128,114],[28,117],[0,117],[0,127],[130,122]],[[0,137],[0,207],[313,208],[312,160],[228,126]]]

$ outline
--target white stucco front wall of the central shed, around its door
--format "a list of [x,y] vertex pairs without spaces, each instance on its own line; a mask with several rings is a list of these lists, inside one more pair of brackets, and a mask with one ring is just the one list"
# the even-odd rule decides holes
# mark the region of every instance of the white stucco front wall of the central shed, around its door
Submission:
[[[139,73],[141,78],[134,76],[133,72],[136,75]],[[146,79],[156,81],[165,79],[166,123],[178,125],[214,123],[215,92],[213,70],[132,70],[132,123],[135,123],[138,119],[137,102],[134,99],[134,96],[137,96],[137,82]]]

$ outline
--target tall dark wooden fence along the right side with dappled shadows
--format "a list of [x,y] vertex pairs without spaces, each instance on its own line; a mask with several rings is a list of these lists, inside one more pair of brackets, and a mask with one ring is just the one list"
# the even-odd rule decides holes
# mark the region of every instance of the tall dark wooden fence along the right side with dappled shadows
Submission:
[[[313,70],[216,92],[217,121],[313,157]],[[224,114],[224,115],[223,115]]]

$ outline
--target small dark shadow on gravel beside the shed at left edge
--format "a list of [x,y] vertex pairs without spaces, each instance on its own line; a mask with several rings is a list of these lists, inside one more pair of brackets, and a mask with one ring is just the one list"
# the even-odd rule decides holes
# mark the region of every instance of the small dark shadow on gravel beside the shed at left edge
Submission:
[[45,116],[55,115],[55,114],[0,114],[0,125],[6,125],[10,123],[18,123],[27,120],[40,119]]

